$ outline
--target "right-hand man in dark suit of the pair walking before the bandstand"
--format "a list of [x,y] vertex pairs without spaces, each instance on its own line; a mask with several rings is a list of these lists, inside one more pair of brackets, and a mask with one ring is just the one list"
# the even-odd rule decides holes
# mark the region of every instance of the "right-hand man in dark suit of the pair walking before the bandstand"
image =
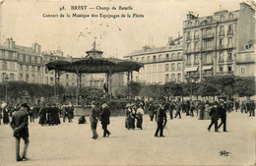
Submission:
[[109,117],[110,117],[110,109],[107,106],[106,103],[102,104],[102,111],[100,113],[100,117],[101,117],[101,125],[102,125],[102,129],[104,130],[103,132],[103,138],[105,137],[109,137],[110,136],[110,132],[107,130],[107,125],[110,124],[109,121]]

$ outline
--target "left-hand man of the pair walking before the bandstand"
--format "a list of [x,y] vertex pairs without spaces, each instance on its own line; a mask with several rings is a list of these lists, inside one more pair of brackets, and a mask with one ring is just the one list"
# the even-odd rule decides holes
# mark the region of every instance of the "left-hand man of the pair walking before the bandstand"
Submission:
[[98,135],[96,134],[96,124],[97,120],[99,118],[99,108],[96,106],[96,101],[92,102],[92,112],[90,115],[90,122],[91,122],[91,129],[93,132],[93,138],[98,138]]

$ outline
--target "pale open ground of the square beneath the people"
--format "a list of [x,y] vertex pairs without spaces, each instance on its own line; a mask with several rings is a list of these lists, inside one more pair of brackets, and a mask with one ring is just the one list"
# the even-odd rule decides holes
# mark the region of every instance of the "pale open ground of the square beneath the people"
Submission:
[[[87,118],[87,120],[89,120]],[[109,138],[92,139],[90,124],[40,127],[30,124],[29,161],[15,160],[10,126],[0,125],[0,165],[254,165],[255,118],[227,115],[228,133],[209,133],[210,120],[168,120],[165,138],[155,138],[156,123],[144,116],[144,129],[127,131],[124,117],[111,117]],[[36,121],[37,122],[37,121]],[[97,128],[102,135],[101,126]],[[23,141],[22,141],[23,144]],[[220,151],[230,152],[221,156]]]

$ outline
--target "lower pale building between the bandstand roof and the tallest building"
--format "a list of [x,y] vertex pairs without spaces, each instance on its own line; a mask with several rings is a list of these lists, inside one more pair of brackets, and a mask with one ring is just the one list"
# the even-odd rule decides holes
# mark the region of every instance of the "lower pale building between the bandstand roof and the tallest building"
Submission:
[[145,46],[124,58],[144,64],[144,68],[133,73],[133,81],[140,83],[183,82],[182,37],[169,37],[167,46]]

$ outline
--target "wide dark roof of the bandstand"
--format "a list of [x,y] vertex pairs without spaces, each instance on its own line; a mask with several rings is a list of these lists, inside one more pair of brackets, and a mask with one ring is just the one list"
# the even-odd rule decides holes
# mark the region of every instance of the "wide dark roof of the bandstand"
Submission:
[[143,64],[117,58],[86,57],[74,58],[70,61],[51,61],[45,64],[48,70],[65,71],[69,73],[117,73],[137,71]]

